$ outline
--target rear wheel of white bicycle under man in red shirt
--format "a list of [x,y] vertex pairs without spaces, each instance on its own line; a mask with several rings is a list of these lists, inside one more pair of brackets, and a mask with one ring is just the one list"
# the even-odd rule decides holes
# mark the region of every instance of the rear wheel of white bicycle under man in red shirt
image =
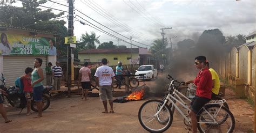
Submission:
[[233,132],[234,130],[234,116],[225,107],[208,105],[198,114],[198,129],[200,132]]

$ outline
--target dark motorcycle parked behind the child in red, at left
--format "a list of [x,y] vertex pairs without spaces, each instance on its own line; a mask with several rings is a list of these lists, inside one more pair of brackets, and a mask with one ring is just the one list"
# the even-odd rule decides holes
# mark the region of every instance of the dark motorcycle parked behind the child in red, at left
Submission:
[[[3,101],[8,102],[12,107],[21,108],[21,112],[22,112],[22,110],[26,106],[26,98],[24,93],[20,93],[19,89],[16,86],[10,86],[9,88],[7,88],[5,86],[6,80],[4,78],[3,73],[2,73],[2,79],[0,80],[2,82],[2,85],[0,85],[0,88],[6,92],[6,94],[2,93]],[[52,90],[52,88],[53,86],[44,86],[43,95],[42,95],[43,111],[50,106],[49,97],[51,97],[50,91]],[[36,102],[33,99],[31,100],[31,110],[33,110],[34,112],[38,112]],[[21,114],[21,112],[19,112],[19,114]]]

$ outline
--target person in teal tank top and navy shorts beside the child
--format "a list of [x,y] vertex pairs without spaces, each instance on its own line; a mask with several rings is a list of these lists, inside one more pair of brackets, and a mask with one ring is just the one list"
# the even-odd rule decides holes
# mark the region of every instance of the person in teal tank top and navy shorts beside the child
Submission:
[[32,71],[32,87],[33,87],[33,99],[36,102],[37,109],[38,109],[38,115],[35,117],[42,117],[42,109],[43,109],[43,102],[42,102],[42,95],[43,95],[43,84],[42,81],[44,80],[43,76],[43,69],[41,68],[41,65],[43,63],[43,60],[41,58],[35,58],[34,65],[35,68]]

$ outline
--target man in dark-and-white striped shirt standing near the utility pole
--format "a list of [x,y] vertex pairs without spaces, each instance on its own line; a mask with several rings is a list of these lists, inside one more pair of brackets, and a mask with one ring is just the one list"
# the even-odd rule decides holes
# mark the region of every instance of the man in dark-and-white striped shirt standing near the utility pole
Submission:
[[55,63],[56,65],[52,68],[52,77],[54,79],[54,88],[55,90],[60,90],[60,82],[62,81],[62,68],[59,66],[59,62]]

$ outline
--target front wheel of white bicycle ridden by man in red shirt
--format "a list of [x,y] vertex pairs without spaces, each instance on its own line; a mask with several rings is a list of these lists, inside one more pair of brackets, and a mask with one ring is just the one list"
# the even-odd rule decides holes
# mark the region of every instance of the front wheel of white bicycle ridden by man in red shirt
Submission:
[[[169,129],[173,115],[170,107],[163,104],[161,100],[151,99],[139,108],[139,123],[144,129],[150,132],[164,132]],[[163,106],[161,110],[159,105]]]

